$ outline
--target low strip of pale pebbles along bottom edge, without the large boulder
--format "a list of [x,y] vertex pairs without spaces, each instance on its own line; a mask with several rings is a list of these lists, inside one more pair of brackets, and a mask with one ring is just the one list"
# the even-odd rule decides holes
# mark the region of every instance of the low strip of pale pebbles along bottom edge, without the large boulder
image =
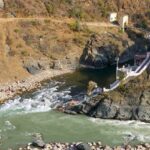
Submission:
[[102,145],[101,142],[91,143],[49,143],[45,144],[43,148],[34,147],[28,144],[26,148],[19,148],[19,150],[150,150],[150,144],[141,144],[132,147],[131,145],[110,147]]

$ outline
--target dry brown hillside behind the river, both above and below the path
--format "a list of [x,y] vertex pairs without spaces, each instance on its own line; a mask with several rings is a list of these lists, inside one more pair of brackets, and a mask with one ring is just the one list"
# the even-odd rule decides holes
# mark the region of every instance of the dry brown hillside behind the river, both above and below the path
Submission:
[[[76,68],[93,33],[123,35],[132,46],[135,40],[127,33],[121,35],[118,28],[107,24],[81,26],[80,21],[107,22],[109,12],[117,11],[130,14],[131,21],[147,27],[149,8],[150,0],[0,0],[0,17],[4,18],[0,20],[0,82],[23,79],[49,68],[60,69],[60,64]],[[26,19],[30,17],[36,19]],[[123,51],[126,45],[121,48]]]

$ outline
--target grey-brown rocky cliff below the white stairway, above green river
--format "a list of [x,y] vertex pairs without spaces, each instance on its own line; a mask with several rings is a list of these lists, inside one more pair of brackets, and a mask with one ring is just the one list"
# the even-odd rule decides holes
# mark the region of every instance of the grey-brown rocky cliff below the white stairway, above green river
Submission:
[[115,91],[70,108],[91,117],[150,122],[150,74],[145,72]]

